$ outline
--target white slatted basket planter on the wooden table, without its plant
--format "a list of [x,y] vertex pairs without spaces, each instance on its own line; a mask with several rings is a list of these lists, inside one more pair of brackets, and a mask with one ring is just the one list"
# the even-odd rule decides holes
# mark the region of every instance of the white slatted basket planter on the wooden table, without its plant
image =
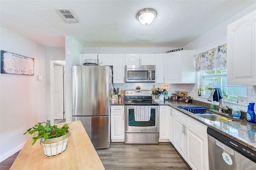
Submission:
[[68,147],[68,139],[70,138],[71,131],[68,129],[68,134],[53,138],[53,139],[47,139],[45,142],[41,138],[40,139],[40,145],[44,151],[44,156],[46,157],[53,157],[58,156],[59,154],[62,154]]

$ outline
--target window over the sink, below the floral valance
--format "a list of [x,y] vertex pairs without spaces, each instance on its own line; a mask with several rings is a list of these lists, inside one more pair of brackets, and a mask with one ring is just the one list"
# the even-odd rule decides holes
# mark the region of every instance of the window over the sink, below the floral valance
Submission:
[[236,102],[238,96],[247,96],[247,86],[227,85],[226,69],[217,69],[211,71],[202,71],[201,87],[204,90],[203,96],[209,97],[211,90],[209,88],[221,88],[222,96],[228,95],[228,100]]

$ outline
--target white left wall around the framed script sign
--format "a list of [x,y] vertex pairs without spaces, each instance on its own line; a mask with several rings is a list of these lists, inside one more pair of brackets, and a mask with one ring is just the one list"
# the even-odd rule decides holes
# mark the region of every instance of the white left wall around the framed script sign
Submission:
[[[47,117],[46,48],[0,27],[1,50],[34,58],[34,76],[0,74],[0,161],[20,150],[29,135],[22,135]],[[37,76],[42,75],[43,80]]]

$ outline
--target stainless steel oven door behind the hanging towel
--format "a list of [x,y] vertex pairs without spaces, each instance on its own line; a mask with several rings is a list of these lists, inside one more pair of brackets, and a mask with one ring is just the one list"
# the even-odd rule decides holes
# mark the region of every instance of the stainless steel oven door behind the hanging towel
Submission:
[[159,133],[159,106],[149,107],[150,120],[135,121],[135,106],[125,106],[125,133]]

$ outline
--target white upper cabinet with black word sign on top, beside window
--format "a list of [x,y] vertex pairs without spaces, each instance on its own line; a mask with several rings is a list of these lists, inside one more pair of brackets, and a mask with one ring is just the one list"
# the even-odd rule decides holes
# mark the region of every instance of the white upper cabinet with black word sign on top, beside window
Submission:
[[166,53],[164,56],[164,83],[196,83],[196,50]]

